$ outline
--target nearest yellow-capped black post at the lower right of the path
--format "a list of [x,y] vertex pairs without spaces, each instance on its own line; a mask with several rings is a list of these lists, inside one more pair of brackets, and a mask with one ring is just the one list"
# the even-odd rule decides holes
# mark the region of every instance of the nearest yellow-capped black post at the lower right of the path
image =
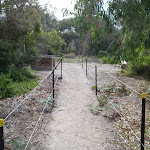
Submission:
[[145,133],[145,101],[146,93],[142,93],[142,121],[141,121],[141,150],[144,150],[144,133]]

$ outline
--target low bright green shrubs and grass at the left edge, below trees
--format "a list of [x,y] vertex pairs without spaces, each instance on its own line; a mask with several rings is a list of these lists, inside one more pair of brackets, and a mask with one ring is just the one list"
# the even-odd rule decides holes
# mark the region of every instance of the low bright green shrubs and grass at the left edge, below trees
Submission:
[[30,92],[38,80],[33,71],[26,67],[8,67],[0,73],[0,99]]

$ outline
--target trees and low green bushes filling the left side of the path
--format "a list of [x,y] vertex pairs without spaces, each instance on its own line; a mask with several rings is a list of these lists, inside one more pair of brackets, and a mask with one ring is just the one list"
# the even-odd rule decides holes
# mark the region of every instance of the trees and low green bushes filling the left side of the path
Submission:
[[37,79],[26,68],[40,55],[58,54],[64,41],[57,19],[38,0],[0,4],[0,98],[30,91]]

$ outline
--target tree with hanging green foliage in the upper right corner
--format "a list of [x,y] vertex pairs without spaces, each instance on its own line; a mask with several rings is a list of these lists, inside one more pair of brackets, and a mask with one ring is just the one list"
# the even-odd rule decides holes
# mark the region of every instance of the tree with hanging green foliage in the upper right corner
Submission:
[[150,47],[150,1],[112,0],[109,11],[123,32],[122,49],[127,60],[143,59]]

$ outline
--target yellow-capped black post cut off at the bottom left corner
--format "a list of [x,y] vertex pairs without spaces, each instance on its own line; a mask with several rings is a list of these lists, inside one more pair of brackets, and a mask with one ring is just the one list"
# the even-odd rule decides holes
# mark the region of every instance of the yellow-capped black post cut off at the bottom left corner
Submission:
[[4,150],[4,120],[0,119],[0,150]]

